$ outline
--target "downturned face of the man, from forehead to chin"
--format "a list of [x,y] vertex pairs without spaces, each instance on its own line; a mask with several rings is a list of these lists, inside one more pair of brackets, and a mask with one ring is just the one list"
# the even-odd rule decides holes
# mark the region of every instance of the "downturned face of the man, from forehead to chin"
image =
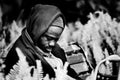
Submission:
[[39,39],[39,48],[46,53],[51,52],[56,42],[58,41],[62,31],[63,29],[60,27],[50,26],[48,31]]

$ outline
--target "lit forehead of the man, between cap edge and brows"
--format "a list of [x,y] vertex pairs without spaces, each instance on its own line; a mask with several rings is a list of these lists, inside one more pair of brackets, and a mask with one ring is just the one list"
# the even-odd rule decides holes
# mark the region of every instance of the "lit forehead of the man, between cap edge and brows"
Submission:
[[49,27],[46,34],[59,37],[60,34],[62,33],[62,31],[63,31],[63,29],[61,27],[51,26],[51,27]]

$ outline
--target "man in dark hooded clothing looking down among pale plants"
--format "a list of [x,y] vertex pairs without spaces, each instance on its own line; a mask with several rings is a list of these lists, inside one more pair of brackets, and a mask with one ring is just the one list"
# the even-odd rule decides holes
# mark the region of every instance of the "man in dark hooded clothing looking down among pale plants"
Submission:
[[[65,27],[65,19],[61,11],[52,5],[38,4],[32,8],[26,28],[13,45],[5,60],[5,75],[18,62],[16,48],[20,48],[30,66],[36,66],[36,60],[41,60],[44,74],[55,77],[57,61],[64,64],[64,50],[56,43]],[[57,60],[57,61],[56,61]],[[68,67],[68,75],[78,79],[73,69]]]

